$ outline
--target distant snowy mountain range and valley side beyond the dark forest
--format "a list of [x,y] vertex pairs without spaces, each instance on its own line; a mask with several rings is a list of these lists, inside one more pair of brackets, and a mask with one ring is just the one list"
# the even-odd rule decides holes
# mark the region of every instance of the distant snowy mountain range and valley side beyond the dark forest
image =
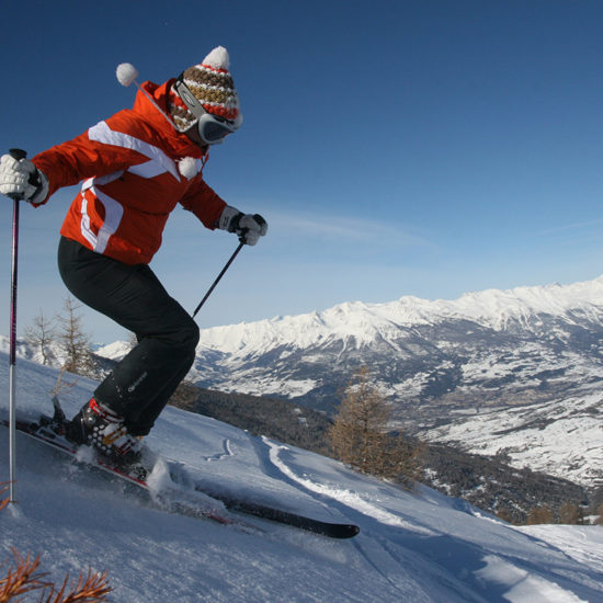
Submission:
[[[206,329],[190,377],[332,411],[366,365],[405,429],[593,486],[603,479],[602,342],[603,276]],[[120,357],[124,345],[101,353]]]

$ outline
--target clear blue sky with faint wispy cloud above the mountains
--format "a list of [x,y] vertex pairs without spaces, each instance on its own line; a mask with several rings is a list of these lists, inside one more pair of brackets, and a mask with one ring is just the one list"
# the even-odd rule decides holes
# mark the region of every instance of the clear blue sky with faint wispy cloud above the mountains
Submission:
[[[33,156],[129,107],[120,62],[159,83],[224,45],[244,124],[204,173],[270,232],[202,328],[590,280],[603,274],[602,25],[596,0],[5,2],[2,147]],[[20,331],[67,295],[56,247],[75,194],[22,208]],[[151,265],[192,311],[236,244],[177,209]],[[84,316],[94,341],[127,337]]]

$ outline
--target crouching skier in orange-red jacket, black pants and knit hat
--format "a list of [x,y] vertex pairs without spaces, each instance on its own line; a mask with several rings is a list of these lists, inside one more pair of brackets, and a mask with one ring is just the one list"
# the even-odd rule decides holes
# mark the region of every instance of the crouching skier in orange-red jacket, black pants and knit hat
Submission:
[[141,436],[191,368],[200,337],[148,265],[170,213],[180,204],[208,229],[234,232],[247,244],[268,231],[260,215],[228,205],[203,178],[209,147],[242,123],[229,67],[218,46],[178,78],[144,82],[132,110],[72,140],[31,161],[0,158],[0,193],[35,207],[83,181],[60,229],[61,278],[138,343],[68,423],[66,436],[123,465],[139,459]]

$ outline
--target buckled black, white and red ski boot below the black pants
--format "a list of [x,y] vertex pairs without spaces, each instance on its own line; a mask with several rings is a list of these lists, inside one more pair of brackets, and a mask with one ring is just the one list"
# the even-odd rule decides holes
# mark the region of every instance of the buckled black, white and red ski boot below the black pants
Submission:
[[67,424],[65,436],[75,444],[94,447],[120,466],[140,460],[141,437],[129,434],[124,419],[94,398]]

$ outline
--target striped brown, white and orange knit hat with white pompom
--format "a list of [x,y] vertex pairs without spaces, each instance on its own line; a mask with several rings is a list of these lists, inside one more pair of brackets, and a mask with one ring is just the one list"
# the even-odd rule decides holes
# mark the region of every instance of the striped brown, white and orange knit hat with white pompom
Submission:
[[[182,79],[203,109],[229,121],[239,116],[239,96],[228,72],[230,58],[224,46],[214,48],[201,65],[182,73]],[[174,87],[170,89],[170,115],[179,132],[185,132],[197,121],[189,111]]]

